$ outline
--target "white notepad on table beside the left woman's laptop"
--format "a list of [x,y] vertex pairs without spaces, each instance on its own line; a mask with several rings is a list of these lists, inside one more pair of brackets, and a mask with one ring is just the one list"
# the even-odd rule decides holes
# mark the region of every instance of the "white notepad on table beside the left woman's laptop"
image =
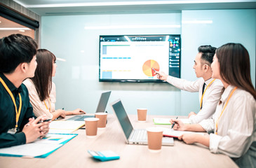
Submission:
[[84,124],[84,121],[56,120],[50,123],[49,133],[70,134],[83,127]]

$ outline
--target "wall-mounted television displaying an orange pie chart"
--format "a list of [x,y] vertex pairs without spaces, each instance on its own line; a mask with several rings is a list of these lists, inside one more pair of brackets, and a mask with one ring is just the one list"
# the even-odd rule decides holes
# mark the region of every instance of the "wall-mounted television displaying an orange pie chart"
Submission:
[[180,78],[180,34],[100,36],[100,82],[156,82],[156,71]]

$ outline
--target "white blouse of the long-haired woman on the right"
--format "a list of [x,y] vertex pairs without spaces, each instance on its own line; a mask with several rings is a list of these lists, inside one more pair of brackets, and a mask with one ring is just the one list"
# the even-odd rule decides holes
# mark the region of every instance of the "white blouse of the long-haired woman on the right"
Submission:
[[[239,158],[255,141],[255,99],[238,94],[230,100],[218,123],[217,134],[210,134],[210,151]],[[219,116],[217,116],[219,117]]]

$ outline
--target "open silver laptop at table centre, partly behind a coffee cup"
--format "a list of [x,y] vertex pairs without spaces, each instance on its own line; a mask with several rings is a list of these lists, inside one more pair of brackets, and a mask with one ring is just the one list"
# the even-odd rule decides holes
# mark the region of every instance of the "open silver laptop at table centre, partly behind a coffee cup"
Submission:
[[[123,108],[123,104],[120,99],[116,100],[109,104],[112,107],[112,110],[116,114],[116,118],[119,120],[121,129],[123,130],[123,135],[126,138],[126,144],[140,144],[147,145],[147,130],[133,129],[133,125],[130,123],[130,120],[127,116],[126,110]],[[173,138],[163,137],[162,140],[163,146],[173,146]]]

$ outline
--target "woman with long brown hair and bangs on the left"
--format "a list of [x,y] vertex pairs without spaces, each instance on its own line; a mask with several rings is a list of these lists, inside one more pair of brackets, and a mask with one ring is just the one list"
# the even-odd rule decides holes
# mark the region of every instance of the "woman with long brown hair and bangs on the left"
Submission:
[[36,117],[46,114],[52,120],[55,118],[65,118],[67,115],[85,113],[81,109],[74,111],[55,110],[56,90],[52,77],[56,72],[56,57],[46,49],[37,50],[37,67],[34,78],[27,78],[23,83],[29,90],[30,103],[33,106]]

